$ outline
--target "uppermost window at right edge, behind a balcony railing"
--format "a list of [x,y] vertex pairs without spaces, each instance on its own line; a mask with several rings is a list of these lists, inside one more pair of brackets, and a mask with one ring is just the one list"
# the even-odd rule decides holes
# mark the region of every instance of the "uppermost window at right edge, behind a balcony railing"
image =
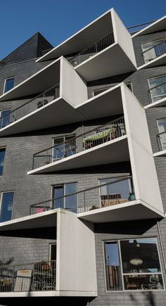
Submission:
[[[159,45],[158,44],[161,44]],[[161,39],[155,42],[147,42],[146,44],[142,44],[142,51],[144,63],[148,63],[150,60],[157,58],[161,54],[165,53],[165,39]]]

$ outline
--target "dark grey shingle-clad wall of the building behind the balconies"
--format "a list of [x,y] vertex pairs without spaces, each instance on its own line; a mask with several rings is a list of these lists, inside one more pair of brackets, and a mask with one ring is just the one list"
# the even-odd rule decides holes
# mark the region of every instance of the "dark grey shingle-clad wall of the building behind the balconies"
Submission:
[[[160,37],[162,38],[164,32],[153,34],[150,37],[138,37],[134,39],[134,48],[137,57],[137,63],[139,64],[139,56],[141,53],[141,42],[148,42],[151,39]],[[23,81],[37,70],[44,67],[48,63],[34,63],[34,60],[20,63],[18,65],[12,65],[10,68],[0,68],[0,91],[2,92],[4,86],[4,78],[15,75],[15,84]],[[134,94],[143,106],[148,104],[148,78],[158,75],[164,75],[166,73],[165,66],[160,68],[146,68],[134,72],[133,74],[121,75],[117,77],[111,77],[103,80],[89,82],[88,93],[89,98],[92,96],[94,89],[100,89],[102,87],[108,87],[111,84],[117,84],[124,81],[125,83],[132,82]],[[10,75],[9,75],[10,74]],[[9,102],[10,107],[15,107],[15,101]],[[20,102],[22,103],[22,102]],[[8,102],[0,103],[1,109],[8,106]],[[111,114],[109,114],[111,115]],[[156,134],[158,133],[158,127],[156,120],[161,117],[166,117],[165,108],[155,108],[146,110],[146,116],[148,120],[148,127],[151,136],[151,144],[153,152],[158,151],[158,145],[156,141]],[[106,119],[108,120],[108,119]],[[98,125],[101,125],[106,120],[96,120],[94,122],[84,122],[84,131],[92,129]],[[140,122],[141,124],[141,122]],[[139,127],[138,127],[139,128]],[[27,171],[32,169],[32,155],[43,148],[49,147],[52,144],[52,138],[60,136],[62,134],[81,134],[82,125],[68,125],[65,127],[58,127],[48,130],[41,130],[34,133],[20,134],[17,136],[9,136],[0,139],[0,146],[6,146],[6,157],[4,164],[4,174],[0,177],[0,191],[15,190],[15,199],[13,207],[13,217],[22,217],[29,215],[30,205],[42,200],[49,199],[51,197],[51,185],[63,184],[72,181],[78,182],[78,189],[86,189],[98,184],[98,179],[106,177],[114,177],[120,174],[128,174],[130,167],[128,163],[121,163],[118,165],[106,165],[91,167],[87,169],[71,170],[53,174],[38,174],[33,176],[27,176]],[[166,162],[165,157],[155,158],[156,170],[158,173],[158,181],[160,184],[160,191],[162,195],[162,201],[164,207],[166,207],[166,188],[165,188],[165,176],[166,176]],[[162,220],[160,222],[160,229],[162,234],[163,248],[166,253],[166,222]],[[158,236],[158,229],[156,227],[155,220],[146,220],[138,222],[116,222],[112,224],[97,224],[95,226],[96,232],[96,264],[97,264],[97,276],[98,276],[98,298],[92,300],[90,305],[110,305],[110,306],[164,306],[165,305],[165,291],[153,291],[153,292],[106,292],[106,281],[104,274],[104,260],[103,260],[103,241],[122,238],[133,237],[158,237],[160,258],[162,264],[163,275],[165,277],[165,269],[163,264],[161,245]],[[25,262],[25,260],[46,260],[49,257],[49,243],[55,241],[55,237],[49,235],[49,229],[46,231],[47,235],[42,238],[39,232],[32,237],[26,238],[16,236],[11,237],[10,234],[1,236],[1,248],[0,248],[0,260],[5,260],[14,257],[16,263]],[[25,257],[26,254],[26,257]],[[56,302],[62,302],[63,299],[57,299]],[[20,300],[16,300],[17,305],[20,305]],[[38,300],[42,305],[44,298]],[[63,300],[64,301],[64,300]],[[70,300],[71,301],[71,300]],[[26,301],[24,301],[26,303]],[[53,305],[55,300],[49,299],[50,305]],[[65,300],[69,303],[69,300]],[[11,300],[0,299],[0,305],[14,305],[11,304]],[[83,298],[81,300],[72,300],[72,305],[86,305],[87,300]],[[61,305],[61,304],[60,304]]]

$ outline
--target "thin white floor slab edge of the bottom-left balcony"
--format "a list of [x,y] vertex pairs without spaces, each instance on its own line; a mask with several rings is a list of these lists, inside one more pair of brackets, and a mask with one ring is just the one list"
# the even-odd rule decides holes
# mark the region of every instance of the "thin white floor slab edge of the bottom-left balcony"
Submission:
[[[30,291],[30,292],[4,292],[0,298],[37,298],[37,297],[91,297],[97,296],[96,291]],[[56,302],[56,301],[55,301]]]

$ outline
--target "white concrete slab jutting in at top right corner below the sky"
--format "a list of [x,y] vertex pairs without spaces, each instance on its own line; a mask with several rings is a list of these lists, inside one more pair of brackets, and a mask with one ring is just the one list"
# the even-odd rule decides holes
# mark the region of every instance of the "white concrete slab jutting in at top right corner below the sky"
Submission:
[[136,32],[136,34],[132,35],[132,37],[140,36],[140,35],[146,35],[146,34],[152,34],[155,32],[160,32],[166,29],[166,15],[162,18],[156,20],[154,23],[151,23],[151,25],[148,25],[147,27],[144,27],[143,30]]

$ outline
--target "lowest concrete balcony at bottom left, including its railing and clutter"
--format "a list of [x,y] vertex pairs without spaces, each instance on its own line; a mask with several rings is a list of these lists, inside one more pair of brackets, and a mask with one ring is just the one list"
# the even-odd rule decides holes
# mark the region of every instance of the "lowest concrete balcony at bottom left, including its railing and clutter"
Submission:
[[[56,227],[56,261],[38,261],[36,264],[15,264],[15,266],[5,267],[5,269],[1,268],[0,276],[3,274],[6,282],[0,286],[0,298],[30,298],[34,296],[96,297],[93,224],[82,222],[76,214],[59,208],[1,223],[0,232],[3,236],[4,232],[6,235],[12,231],[14,236],[15,231],[17,234],[21,231],[23,236],[24,229],[34,229],[35,231],[35,229],[41,229],[42,227]],[[66,260],[67,245],[68,260]],[[45,274],[45,278],[40,281],[42,274]],[[1,292],[1,289],[3,292]]]

